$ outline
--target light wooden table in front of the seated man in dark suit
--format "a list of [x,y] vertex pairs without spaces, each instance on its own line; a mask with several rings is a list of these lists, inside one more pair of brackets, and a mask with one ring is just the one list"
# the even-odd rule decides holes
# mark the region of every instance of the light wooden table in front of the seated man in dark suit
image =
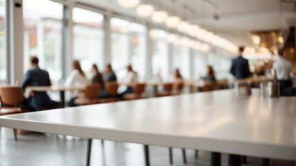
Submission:
[[31,91],[59,91],[61,98],[61,107],[65,107],[65,91],[83,90],[82,86],[27,86],[26,89]]

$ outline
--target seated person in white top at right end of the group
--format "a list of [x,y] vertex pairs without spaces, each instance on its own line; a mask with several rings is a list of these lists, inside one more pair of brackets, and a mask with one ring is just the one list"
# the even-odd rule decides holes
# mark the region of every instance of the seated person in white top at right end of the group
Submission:
[[133,71],[133,68],[131,67],[131,65],[127,66],[127,76],[124,77],[123,83],[128,84],[128,86],[124,92],[120,93],[120,98],[122,98],[124,94],[133,93],[132,86],[137,82],[138,82],[138,74]]

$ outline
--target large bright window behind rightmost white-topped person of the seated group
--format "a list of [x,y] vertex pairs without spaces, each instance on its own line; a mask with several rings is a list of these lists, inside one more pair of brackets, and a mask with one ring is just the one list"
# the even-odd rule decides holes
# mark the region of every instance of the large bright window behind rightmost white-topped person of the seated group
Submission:
[[140,80],[145,77],[145,26],[123,19],[111,19],[111,62],[119,80],[131,64]]

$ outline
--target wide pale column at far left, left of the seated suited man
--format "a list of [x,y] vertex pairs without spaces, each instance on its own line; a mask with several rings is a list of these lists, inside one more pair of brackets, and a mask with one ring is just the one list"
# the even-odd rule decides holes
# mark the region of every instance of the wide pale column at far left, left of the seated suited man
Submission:
[[24,30],[23,30],[23,1],[6,1],[8,11],[7,41],[8,41],[8,83],[14,84],[24,79]]

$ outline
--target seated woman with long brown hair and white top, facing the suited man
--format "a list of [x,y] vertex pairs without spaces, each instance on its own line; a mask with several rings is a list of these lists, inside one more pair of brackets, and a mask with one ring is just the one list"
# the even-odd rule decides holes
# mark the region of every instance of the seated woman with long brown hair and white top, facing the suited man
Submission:
[[[89,82],[86,79],[84,72],[82,71],[80,63],[78,61],[73,61],[72,71],[65,81],[65,86],[86,86],[86,84],[88,83]],[[76,98],[78,98],[80,94],[80,91],[73,91],[73,97],[68,102],[69,107],[77,106],[74,101]]]

